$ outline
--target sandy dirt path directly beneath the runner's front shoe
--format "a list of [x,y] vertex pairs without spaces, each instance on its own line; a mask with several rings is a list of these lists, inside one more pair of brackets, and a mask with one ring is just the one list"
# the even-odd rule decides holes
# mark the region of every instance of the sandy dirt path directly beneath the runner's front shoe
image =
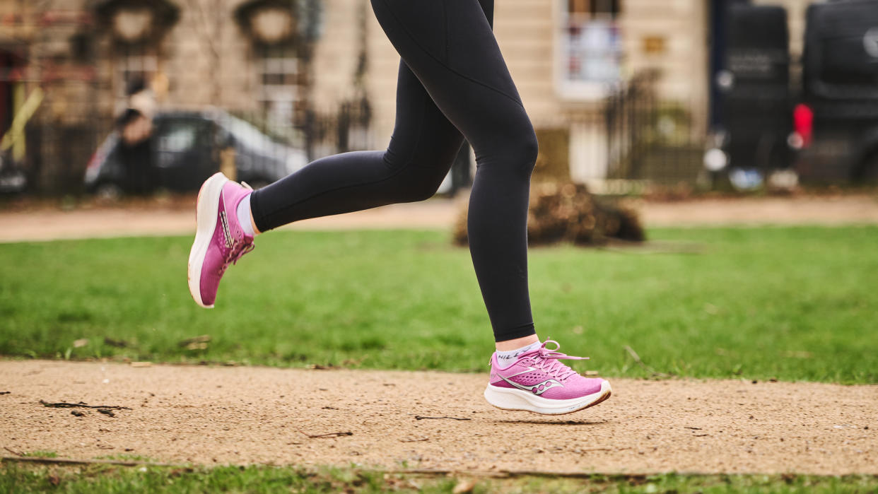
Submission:
[[[493,409],[480,375],[0,361],[0,376],[0,447],[76,459],[878,474],[878,386],[615,379],[607,402],[552,418]],[[330,433],[351,434],[306,435]]]

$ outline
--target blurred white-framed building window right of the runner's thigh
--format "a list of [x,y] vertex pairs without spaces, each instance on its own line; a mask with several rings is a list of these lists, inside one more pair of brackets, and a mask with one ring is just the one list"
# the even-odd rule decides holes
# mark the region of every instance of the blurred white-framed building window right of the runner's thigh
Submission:
[[622,72],[622,0],[559,0],[558,89],[563,97],[602,97]]

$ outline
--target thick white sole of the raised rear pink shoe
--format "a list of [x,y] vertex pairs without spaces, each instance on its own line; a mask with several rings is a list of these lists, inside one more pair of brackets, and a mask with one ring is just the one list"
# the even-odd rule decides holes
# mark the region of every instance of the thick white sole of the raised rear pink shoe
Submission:
[[207,247],[210,247],[213,232],[217,226],[217,214],[219,213],[219,195],[223,185],[228,182],[226,175],[220,172],[213,174],[205,180],[198,190],[198,200],[195,206],[195,241],[189,251],[189,293],[195,303],[205,309],[212,309],[213,304],[205,305],[201,301],[201,268],[205,263]]

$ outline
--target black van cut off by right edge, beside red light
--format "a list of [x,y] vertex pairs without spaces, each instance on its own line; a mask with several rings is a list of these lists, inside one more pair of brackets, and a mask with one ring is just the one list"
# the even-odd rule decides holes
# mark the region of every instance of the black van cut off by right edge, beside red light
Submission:
[[795,168],[809,182],[878,182],[878,0],[812,4],[802,54],[802,147]]

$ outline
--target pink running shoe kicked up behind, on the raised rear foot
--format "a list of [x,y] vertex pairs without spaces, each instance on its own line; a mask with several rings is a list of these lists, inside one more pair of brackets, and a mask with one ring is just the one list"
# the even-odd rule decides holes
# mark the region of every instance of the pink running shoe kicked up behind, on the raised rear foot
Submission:
[[212,308],[219,279],[229,264],[253,250],[253,237],[238,222],[238,204],[252,189],[215,173],[198,190],[195,242],[189,253],[189,292],[195,303]]

